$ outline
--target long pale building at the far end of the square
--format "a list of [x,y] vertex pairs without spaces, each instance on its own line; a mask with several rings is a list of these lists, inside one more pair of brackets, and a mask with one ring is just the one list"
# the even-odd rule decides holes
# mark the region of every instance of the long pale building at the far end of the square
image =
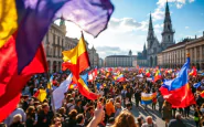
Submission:
[[128,55],[109,55],[105,57],[106,67],[132,67],[133,61],[137,60],[137,55],[132,55],[131,50]]

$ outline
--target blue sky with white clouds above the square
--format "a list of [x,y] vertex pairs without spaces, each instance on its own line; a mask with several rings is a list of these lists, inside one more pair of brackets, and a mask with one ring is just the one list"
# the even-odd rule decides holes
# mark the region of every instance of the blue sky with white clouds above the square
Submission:
[[[88,47],[95,47],[99,57],[108,55],[133,55],[147,44],[149,15],[152,14],[154,33],[161,42],[167,0],[111,0],[115,11],[108,28],[94,39],[85,33]],[[201,36],[204,31],[204,0],[168,0],[174,40]],[[57,21],[56,21],[57,23]],[[72,22],[65,22],[66,35],[80,38],[80,29]]]

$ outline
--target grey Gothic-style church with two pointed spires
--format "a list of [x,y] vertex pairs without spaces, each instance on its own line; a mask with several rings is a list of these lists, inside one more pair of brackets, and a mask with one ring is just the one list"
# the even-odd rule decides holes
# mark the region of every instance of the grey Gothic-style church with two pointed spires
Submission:
[[158,38],[154,34],[152,18],[150,13],[149,29],[147,36],[147,46],[143,45],[143,51],[138,53],[137,63],[140,66],[157,66],[157,54],[165,50],[168,46],[175,44],[174,41],[174,30],[172,29],[172,21],[169,10],[169,4],[165,6],[165,15],[163,21],[163,31],[161,33],[162,40],[159,42]]

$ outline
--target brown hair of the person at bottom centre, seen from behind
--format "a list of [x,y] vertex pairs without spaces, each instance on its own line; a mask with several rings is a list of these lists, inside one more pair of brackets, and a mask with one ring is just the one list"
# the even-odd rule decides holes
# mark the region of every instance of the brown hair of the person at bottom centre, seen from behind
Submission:
[[137,127],[137,125],[133,115],[128,110],[122,110],[111,127]]

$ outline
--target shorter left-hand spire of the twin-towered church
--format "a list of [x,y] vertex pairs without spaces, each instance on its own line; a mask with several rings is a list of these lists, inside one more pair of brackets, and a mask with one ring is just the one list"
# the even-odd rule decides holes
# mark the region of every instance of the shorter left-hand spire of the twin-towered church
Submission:
[[153,31],[153,24],[151,20],[151,13],[150,13],[150,21],[149,21],[149,30],[148,30],[148,50],[151,49],[153,42],[154,42],[154,31]]

